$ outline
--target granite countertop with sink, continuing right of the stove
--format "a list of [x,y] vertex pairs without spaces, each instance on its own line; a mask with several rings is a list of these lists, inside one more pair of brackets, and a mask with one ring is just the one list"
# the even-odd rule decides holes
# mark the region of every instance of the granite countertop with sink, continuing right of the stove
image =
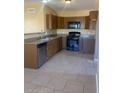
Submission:
[[[25,44],[43,44],[43,43],[47,43],[51,40],[54,40],[56,38],[59,37],[67,37],[68,34],[57,34],[57,35],[49,35],[49,36],[45,36],[42,37],[40,36],[41,34],[29,34],[29,35],[25,35],[25,39],[24,39],[24,43]],[[80,38],[89,38],[89,39],[95,39],[95,35],[94,34],[81,34]]]

